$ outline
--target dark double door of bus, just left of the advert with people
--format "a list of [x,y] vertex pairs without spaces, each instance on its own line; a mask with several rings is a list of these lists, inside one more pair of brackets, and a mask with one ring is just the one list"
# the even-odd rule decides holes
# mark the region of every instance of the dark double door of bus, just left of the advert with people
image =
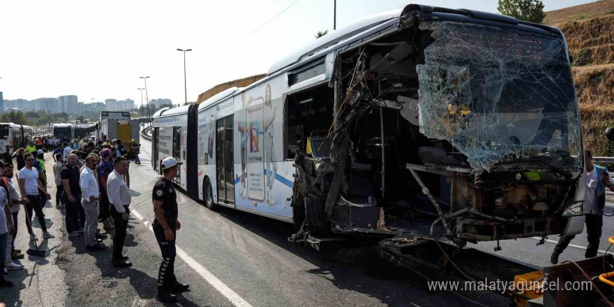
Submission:
[[216,177],[218,182],[218,201],[234,204],[234,142],[232,127],[234,116],[216,121]]

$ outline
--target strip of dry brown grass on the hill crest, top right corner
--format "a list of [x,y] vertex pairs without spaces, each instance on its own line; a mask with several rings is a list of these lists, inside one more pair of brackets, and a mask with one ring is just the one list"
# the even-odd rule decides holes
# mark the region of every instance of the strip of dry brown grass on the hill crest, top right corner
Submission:
[[569,20],[584,20],[614,13],[614,0],[595,1],[546,12],[544,24],[559,24]]

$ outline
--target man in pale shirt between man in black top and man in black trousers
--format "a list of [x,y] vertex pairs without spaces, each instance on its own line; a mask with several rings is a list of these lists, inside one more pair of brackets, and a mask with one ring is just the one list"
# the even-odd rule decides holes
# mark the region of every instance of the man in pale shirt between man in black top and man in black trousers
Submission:
[[96,226],[98,225],[98,182],[93,170],[98,165],[98,155],[90,153],[85,158],[85,167],[81,171],[79,186],[81,187],[81,205],[85,210],[85,249],[105,250],[105,246],[96,239]]

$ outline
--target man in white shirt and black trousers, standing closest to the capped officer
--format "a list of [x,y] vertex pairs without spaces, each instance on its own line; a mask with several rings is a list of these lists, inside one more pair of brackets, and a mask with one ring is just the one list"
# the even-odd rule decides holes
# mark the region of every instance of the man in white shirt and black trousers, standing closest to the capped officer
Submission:
[[126,181],[123,181],[123,174],[126,172],[126,158],[117,156],[114,160],[115,168],[107,179],[107,191],[109,202],[111,203],[111,216],[115,221],[115,235],[113,237],[113,267],[132,267],[132,263],[127,262],[124,255],[121,255],[123,250],[123,241],[126,239],[126,228],[128,227],[128,219],[130,218],[130,209],[128,205],[132,202],[130,189],[126,186]]

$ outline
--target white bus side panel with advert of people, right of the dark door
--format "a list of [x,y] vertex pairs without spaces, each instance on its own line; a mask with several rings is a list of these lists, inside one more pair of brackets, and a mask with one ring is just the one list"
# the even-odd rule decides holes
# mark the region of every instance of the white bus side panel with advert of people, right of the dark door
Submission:
[[237,207],[292,218],[294,167],[283,161],[285,89],[278,77],[234,97],[234,190]]

